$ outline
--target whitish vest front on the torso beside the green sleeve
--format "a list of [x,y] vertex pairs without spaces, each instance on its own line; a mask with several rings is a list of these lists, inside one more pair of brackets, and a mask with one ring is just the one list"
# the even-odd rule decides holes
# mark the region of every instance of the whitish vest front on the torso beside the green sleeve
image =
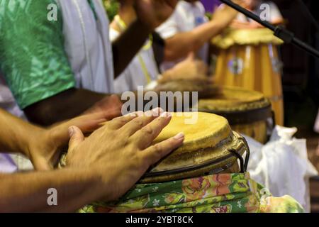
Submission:
[[113,55],[102,2],[57,2],[62,11],[65,51],[77,86],[94,92],[113,92]]

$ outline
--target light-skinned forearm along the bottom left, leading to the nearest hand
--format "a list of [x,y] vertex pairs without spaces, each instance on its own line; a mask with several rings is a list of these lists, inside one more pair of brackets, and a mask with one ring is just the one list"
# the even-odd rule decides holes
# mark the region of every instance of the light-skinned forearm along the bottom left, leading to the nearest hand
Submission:
[[[88,170],[63,169],[0,175],[0,212],[72,212],[101,199],[101,179]],[[48,189],[57,206],[49,206]]]

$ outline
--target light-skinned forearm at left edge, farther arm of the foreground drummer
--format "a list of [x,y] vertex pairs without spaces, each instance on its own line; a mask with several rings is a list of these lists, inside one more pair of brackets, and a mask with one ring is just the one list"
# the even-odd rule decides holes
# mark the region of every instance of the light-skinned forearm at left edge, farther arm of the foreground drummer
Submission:
[[43,133],[42,128],[32,126],[16,116],[0,109],[0,149],[8,152],[23,153],[30,157],[28,142],[31,136]]

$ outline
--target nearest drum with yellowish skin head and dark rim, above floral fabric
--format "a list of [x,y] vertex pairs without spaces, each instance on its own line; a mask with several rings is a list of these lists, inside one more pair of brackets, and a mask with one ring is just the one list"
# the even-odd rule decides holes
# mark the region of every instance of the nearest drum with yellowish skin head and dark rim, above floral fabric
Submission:
[[247,143],[231,130],[223,116],[198,112],[174,113],[172,121],[159,134],[155,143],[181,131],[185,134],[184,144],[153,166],[140,182],[168,182],[246,171],[249,158]]

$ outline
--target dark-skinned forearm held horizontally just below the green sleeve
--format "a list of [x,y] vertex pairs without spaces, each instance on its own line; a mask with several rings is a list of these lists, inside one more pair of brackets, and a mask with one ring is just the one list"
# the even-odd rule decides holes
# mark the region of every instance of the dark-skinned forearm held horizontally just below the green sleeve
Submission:
[[105,97],[106,94],[85,89],[69,89],[28,106],[24,112],[31,122],[41,126],[50,126],[53,123],[79,116]]

